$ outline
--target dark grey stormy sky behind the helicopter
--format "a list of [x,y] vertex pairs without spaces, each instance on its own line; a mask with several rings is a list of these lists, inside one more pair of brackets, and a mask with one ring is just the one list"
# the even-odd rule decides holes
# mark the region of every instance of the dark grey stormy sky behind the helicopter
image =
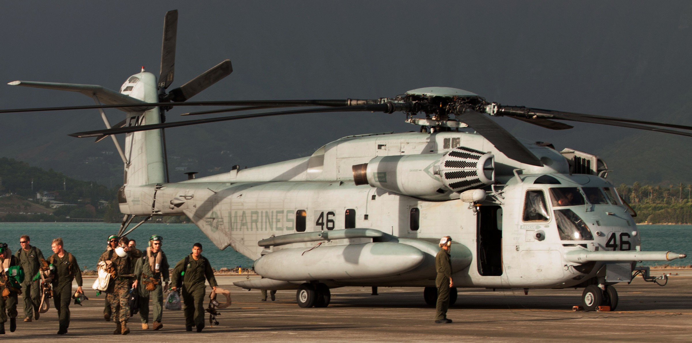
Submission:
[[[508,105],[692,124],[688,1],[5,1],[0,81],[115,90],[140,66],[158,74],[163,16],[172,9],[179,10],[173,87],[233,61],[233,74],[194,100],[372,99],[448,86]],[[91,99],[0,87],[0,108],[82,104]],[[112,123],[122,119],[117,110],[107,113]],[[95,110],[2,116],[0,156],[121,182],[119,158],[100,153],[114,150],[108,140],[66,136],[101,128]],[[345,135],[417,130],[402,119],[251,119],[170,129],[167,141],[170,155],[195,159],[191,168],[209,175],[210,168],[309,155]],[[530,141],[603,155],[623,182],[692,182],[679,161],[692,159],[689,137],[590,124],[554,132],[498,121]],[[107,163],[91,169],[89,157]],[[668,165],[668,174],[659,171]]]

